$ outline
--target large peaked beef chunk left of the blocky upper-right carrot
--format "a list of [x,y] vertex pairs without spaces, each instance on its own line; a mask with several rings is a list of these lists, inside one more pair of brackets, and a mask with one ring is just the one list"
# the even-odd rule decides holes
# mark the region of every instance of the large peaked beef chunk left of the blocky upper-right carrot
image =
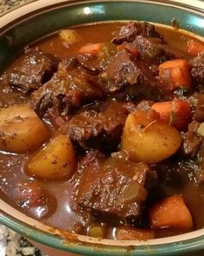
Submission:
[[134,95],[149,95],[150,98],[156,95],[156,99],[159,95],[166,95],[146,63],[134,59],[128,49],[123,49],[112,56],[99,81],[106,93],[113,93],[130,86]]

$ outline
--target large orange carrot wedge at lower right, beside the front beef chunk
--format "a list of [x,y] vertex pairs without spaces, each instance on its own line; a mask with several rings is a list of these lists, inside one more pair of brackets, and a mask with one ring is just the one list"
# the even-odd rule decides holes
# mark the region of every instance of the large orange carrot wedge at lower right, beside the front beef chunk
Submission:
[[150,209],[150,222],[154,228],[172,227],[190,230],[193,220],[181,195],[170,196]]

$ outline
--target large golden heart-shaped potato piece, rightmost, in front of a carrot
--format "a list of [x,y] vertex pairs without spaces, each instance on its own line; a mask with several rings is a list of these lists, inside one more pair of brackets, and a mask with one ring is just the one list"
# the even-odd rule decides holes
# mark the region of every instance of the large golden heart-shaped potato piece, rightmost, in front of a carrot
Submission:
[[146,112],[137,111],[125,122],[121,149],[129,152],[134,161],[153,164],[175,154],[181,143],[181,136],[174,127],[150,120]]

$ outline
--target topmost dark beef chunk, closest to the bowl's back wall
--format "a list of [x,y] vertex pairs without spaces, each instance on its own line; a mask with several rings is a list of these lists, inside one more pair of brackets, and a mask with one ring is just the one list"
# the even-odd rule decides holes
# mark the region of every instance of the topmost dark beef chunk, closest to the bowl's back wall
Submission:
[[138,35],[145,37],[161,37],[161,35],[156,32],[155,26],[150,23],[128,23],[127,25],[124,25],[118,35],[112,39],[112,43],[131,43]]

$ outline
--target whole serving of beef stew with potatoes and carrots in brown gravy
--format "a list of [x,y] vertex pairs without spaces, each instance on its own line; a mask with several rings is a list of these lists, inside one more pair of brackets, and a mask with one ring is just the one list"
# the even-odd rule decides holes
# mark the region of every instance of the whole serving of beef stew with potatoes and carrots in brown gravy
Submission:
[[98,23],[28,46],[1,76],[0,189],[37,220],[148,240],[204,226],[204,43]]

